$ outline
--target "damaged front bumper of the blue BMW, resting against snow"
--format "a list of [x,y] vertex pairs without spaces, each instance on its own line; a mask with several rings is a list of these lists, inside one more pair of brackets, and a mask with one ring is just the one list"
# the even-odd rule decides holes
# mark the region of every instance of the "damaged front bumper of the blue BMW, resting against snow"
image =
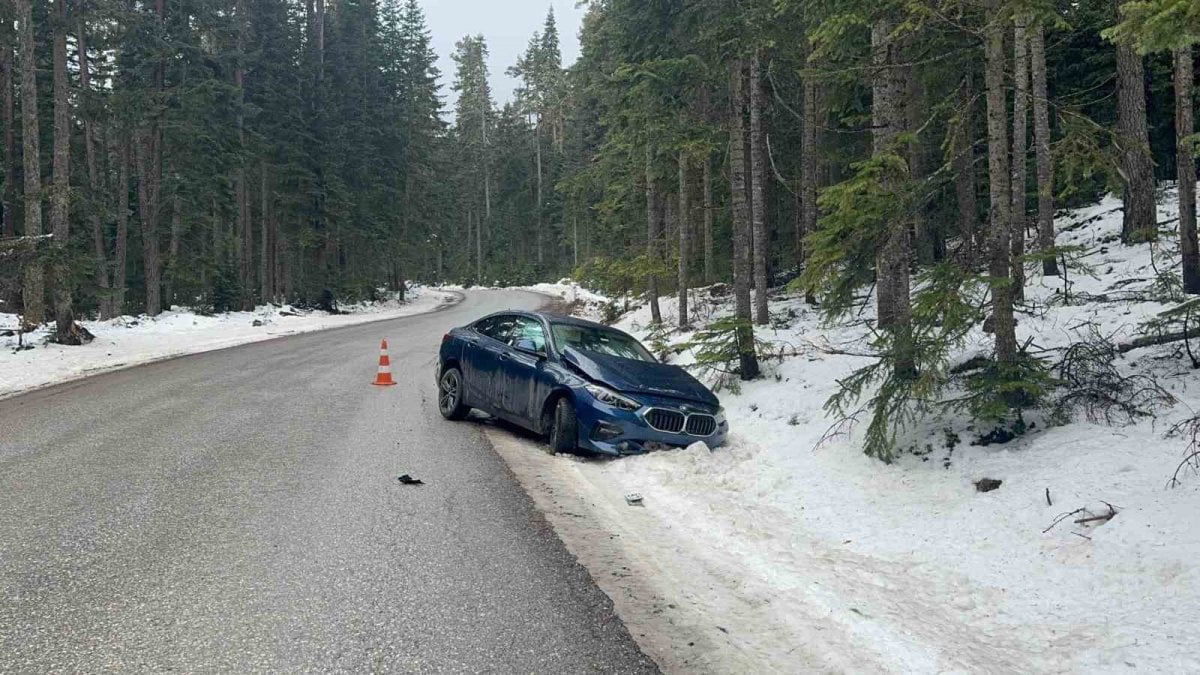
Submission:
[[578,444],[580,448],[593,453],[613,456],[636,455],[649,452],[654,446],[683,448],[696,442],[716,448],[725,443],[730,431],[730,424],[721,411],[713,414],[716,418],[716,429],[707,436],[660,431],[646,422],[647,408],[679,411],[682,405],[686,405],[682,401],[668,399],[641,401],[646,404],[643,408],[625,411],[602,404],[586,392],[577,393],[575,399],[580,423]]

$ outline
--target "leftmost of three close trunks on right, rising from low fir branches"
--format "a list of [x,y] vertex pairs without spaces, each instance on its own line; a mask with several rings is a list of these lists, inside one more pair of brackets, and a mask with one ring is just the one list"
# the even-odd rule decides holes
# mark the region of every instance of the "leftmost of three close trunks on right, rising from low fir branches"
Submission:
[[984,32],[985,79],[988,85],[988,184],[991,201],[991,237],[988,274],[991,277],[992,329],[996,360],[1016,360],[1016,325],[1013,319],[1013,289],[1008,274],[1012,225],[1012,175],[1008,169],[1008,110],[1004,102],[1004,25],[998,0],[991,0]]

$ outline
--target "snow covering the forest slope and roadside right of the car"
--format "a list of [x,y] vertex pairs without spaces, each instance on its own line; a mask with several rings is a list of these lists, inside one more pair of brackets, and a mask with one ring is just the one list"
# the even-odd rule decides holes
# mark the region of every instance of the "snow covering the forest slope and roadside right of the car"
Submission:
[[[1070,294],[1121,301],[1044,305],[1019,316],[1019,340],[1062,347],[1086,322],[1117,341],[1141,334],[1141,321],[1170,306],[1129,297],[1151,287],[1156,268],[1177,265],[1166,233],[1177,222],[1174,199],[1160,196],[1165,229],[1154,245],[1116,239],[1121,203],[1111,197],[1060,217],[1058,244],[1086,246],[1096,274],[1069,269]],[[1039,265],[1028,276],[1031,300],[1063,292]],[[702,316],[730,311],[727,298],[694,293]],[[1200,374],[1181,345],[1121,362],[1178,399],[1157,418],[1106,426],[1080,417],[986,447],[970,444],[982,430],[966,420],[935,418],[904,437],[922,454],[889,466],[862,454],[865,426],[826,437],[834,420],[822,406],[836,380],[870,360],[817,345],[864,351],[864,330],[824,327],[796,298],[775,297],[770,309],[780,328],[760,336],[797,356],[720,394],[726,447],[524,460],[536,462],[527,478],[550,485],[556,526],[588,509],[624,542],[622,555],[600,561],[624,560],[632,572],[593,569],[606,591],[650,598],[660,625],[696,635],[688,647],[702,653],[685,663],[674,661],[688,651],[683,638],[658,650],[668,670],[1200,673],[1200,476],[1166,488],[1187,447],[1166,431],[1200,411]],[[671,321],[676,300],[664,298],[662,311]],[[618,325],[644,339],[648,323],[641,307]],[[960,359],[990,348],[979,331]],[[953,447],[944,429],[959,436]],[[980,478],[1003,484],[979,492]],[[623,503],[631,491],[644,496],[643,509]],[[1050,527],[1079,508],[1105,513],[1104,502],[1118,512],[1108,522],[1074,522],[1081,513]],[[598,540],[568,543],[587,561]],[[622,581],[640,572],[654,577]],[[648,649],[655,653],[653,641]]]

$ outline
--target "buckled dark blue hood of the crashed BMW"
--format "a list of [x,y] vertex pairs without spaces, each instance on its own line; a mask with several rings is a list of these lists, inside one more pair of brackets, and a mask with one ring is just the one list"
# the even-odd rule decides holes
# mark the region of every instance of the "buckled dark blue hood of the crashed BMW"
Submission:
[[713,407],[720,405],[708,387],[677,365],[640,362],[574,348],[565,350],[563,358],[587,377],[625,394],[671,396]]

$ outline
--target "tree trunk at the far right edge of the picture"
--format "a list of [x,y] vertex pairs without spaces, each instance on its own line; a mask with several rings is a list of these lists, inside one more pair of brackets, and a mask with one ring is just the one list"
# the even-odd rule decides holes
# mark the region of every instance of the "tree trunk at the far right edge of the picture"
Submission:
[[1175,50],[1175,143],[1180,183],[1180,249],[1183,255],[1183,289],[1200,293],[1200,246],[1196,244],[1196,162],[1193,120],[1195,77],[1192,47]]

